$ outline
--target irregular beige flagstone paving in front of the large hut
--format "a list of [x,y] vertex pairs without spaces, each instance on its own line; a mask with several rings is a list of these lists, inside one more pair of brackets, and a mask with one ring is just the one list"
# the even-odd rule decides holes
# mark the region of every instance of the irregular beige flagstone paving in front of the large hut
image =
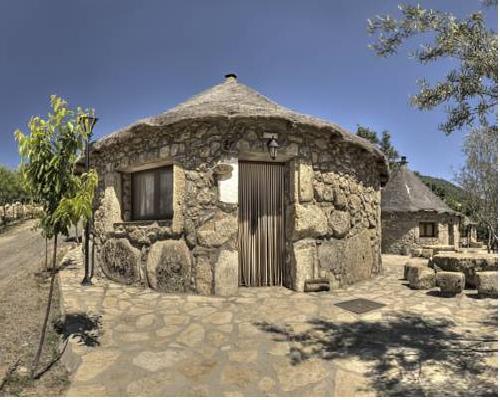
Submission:
[[[333,292],[220,298],[99,279],[82,287],[76,249],[60,273],[64,311],[100,328],[73,327],[67,395],[494,395],[497,299],[411,290],[406,260],[384,256],[383,276]],[[335,306],[360,297],[386,306],[361,315]]]

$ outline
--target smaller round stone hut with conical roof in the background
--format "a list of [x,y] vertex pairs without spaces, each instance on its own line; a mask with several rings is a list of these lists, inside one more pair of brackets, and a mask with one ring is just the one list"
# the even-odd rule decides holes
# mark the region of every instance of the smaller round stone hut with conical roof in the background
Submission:
[[460,214],[432,193],[402,157],[382,190],[382,253],[410,254],[425,245],[458,248],[459,226]]

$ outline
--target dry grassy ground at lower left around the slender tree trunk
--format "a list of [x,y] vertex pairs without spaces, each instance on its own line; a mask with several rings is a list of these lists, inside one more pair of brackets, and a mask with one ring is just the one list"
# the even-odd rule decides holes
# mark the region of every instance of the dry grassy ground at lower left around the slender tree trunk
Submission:
[[[68,248],[67,243],[61,244],[59,260]],[[46,371],[37,379],[29,377],[49,293],[48,274],[40,274],[43,265],[44,259],[35,261],[32,266],[20,269],[0,283],[0,368],[11,370],[0,395],[57,396],[69,383],[66,369],[57,361],[61,345],[61,338],[54,330],[54,322],[61,316],[58,287],[54,291],[48,333],[37,373]],[[1,379],[2,376],[0,382]]]

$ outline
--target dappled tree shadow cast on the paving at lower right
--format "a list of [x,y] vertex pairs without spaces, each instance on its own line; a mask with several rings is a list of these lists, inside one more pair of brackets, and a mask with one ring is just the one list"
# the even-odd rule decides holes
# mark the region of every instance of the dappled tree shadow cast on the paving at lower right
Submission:
[[497,367],[487,361],[497,357],[496,309],[489,317],[484,326],[491,334],[467,337],[449,319],[417,314],[380,322],[313,319],[301,333],[287,324],[256,325],[275,341],[289,342],[292,365],[313,357],[364,361],[364,375],[379,396],[496,396]]

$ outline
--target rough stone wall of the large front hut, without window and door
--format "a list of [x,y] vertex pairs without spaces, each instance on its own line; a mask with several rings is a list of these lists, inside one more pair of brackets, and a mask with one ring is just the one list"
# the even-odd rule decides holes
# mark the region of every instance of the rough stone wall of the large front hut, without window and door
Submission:
[[[236,293],[238,204],[221,188],[234,191],[235,159],[270,161],[264,132],[278,134],[276,161],[289,167],[288,286],[301,291],[306,279],[325,277],[338,287],[380,272],[380,179],[373,156],[329,132],[255,119],[135,128],[128,142],[93,153],[100,177],[100,271],[162,291]],[[162,165],[174,168],[173,219],[131,221],[130,174]],[[123,279],[117,248],[136,261],[122,268]]]

